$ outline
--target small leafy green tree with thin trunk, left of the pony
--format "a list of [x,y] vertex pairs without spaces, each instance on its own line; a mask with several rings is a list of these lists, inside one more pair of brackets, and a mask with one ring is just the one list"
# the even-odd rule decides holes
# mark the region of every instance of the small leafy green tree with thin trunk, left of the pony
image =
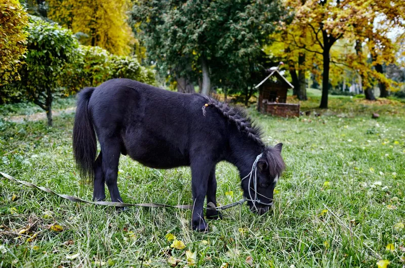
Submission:
[[55,94],[62,94],[65,67],[79,56],[78,42],[69,29],[35,16],[30,16],[27,31],[26,64],[19,70],[21,81],[6,88],[24,94],[44,109],[52,126],[52,101]]

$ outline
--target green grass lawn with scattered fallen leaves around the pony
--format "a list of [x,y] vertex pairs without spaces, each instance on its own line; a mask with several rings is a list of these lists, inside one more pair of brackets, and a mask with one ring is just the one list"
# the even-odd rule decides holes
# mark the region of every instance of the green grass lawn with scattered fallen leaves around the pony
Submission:
[[[318,104],[319,97],[310,95],[301,107]],[[186,250],[196,252],[200,267],[250,267],[248,256],[255,267],[377,267],[376,253],[391,261],[388,267],[402,267],[405,229],[394,225],[405,223],[405,107],[350,97],[330,98],[330,107],[320,117],[299,119],[250,110],[265,142],[285,144],[288,169],[276,186],[272,213],[231,208],[223,220],[209,222],[208,234],[191,231],[189,211],[116,213],[0,179],[0,244],[6,251],[0,250],[0,267],[169,267],[169,255],[184,266]],[[373,120],[371,112],[381,117]],[[55,118],[53,128],[0,123],[1,171],[91,200],[73,165],[72,114]],[[191,203],[188,168],[155,170],[121,157],[118,176],[126,202]],[[220,163],[217,179],[221,204],[241,197],[236,168]],[[49,229],[55,223],[63,231]],[[168,233],[186,247],[171,250]],[[395,251],[386,251],[389,243]]]

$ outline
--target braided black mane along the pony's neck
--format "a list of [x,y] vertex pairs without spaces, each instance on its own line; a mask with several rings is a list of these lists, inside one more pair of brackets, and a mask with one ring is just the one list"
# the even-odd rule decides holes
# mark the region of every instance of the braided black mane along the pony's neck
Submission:
[[[257,142],[260,146],[265,146],[261,139],[262,130],[254,125],[252,119],[247,116],[246,112],[238,107],[231,107],[227,103],[220,102],[213,98],[207,97],[208,106],[215,107],[229,122],[236,125],[241,133],[246,133],[249,138]],[[206,116],[206,105],[203,106],[203,114]]]

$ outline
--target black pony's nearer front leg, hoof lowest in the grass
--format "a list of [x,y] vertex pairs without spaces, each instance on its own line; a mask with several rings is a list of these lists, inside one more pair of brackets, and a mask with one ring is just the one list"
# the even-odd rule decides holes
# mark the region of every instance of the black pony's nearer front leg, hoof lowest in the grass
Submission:
[[191,188],[193,194],[193,211],[191,227],[195,231],[208,232],[208,224],[204,219],[204,201],[207,185],[213,164],[204,159],[193,159],[191,162]]

